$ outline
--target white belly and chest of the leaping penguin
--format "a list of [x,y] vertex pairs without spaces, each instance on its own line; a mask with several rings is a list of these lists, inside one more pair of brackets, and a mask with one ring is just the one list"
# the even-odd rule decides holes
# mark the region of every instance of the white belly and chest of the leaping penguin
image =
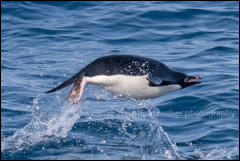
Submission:
[[177,84],[150,87],[148,85],[149,81],[146,79],[147,75],[99,75],[85,78],[87,83],[100,85],[102,88],[112,94],[118,95],[120,97],[131,97],[136,99],[155,98],[165,93],[181,89],[181,86]]

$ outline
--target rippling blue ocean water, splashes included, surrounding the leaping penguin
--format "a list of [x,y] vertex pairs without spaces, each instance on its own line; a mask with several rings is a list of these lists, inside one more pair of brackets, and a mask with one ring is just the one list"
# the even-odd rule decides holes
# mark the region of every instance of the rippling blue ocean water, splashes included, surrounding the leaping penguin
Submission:
[[[1,159],[239,159],[239,2],[1,2]],[[94,59],[130,54],[201,76],[149,100],[87,86],[45,94]]]

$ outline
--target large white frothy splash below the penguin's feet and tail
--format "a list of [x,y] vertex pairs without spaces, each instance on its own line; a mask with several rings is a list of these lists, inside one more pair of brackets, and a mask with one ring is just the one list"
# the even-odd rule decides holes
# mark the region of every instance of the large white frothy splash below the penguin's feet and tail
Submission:
[[2,140],[1,151],[21,151],[39,142],[49,141],[53,137],[66,138],[67,132],[81,115],[79,104],[71,105],[65,102],[58,112],[51,114],[41,110],[39,97],[33,101],[32,120],[14,135]]

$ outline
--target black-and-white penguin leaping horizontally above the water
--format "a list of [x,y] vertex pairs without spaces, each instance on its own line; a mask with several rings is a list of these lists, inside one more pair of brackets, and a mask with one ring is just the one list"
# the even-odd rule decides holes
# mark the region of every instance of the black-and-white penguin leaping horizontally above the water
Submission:
[[174,71],[165,64],[136,55],[109,55],[95,59],[70,79],[45,93],[74,84],[69,102],[80,101],[86,84],[95,84],[124,98],[152,99],[200,84],[199,76]]

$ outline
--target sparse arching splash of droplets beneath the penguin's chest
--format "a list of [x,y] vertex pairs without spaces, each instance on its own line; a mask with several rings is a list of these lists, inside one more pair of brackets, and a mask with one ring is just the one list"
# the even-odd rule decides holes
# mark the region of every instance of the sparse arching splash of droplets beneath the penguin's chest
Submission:
[[[134,141],[135,146],[139,147],[141,159],[184,159],[180,155],[176,144],[170,139],[155,117],[158,116],[159,109],[152,106],[148,101],[138,102],[137,108],[145,109],[146,111],[142,113],[141,111],[133,110],[131,114],[124,112],[128,117],[122,122],[121,131]],[[144,124],[138,122],[143,122]],[[133,127],[132,123],[140,125]],[[128,131],[130,127],[138,129],[139,132]]]

